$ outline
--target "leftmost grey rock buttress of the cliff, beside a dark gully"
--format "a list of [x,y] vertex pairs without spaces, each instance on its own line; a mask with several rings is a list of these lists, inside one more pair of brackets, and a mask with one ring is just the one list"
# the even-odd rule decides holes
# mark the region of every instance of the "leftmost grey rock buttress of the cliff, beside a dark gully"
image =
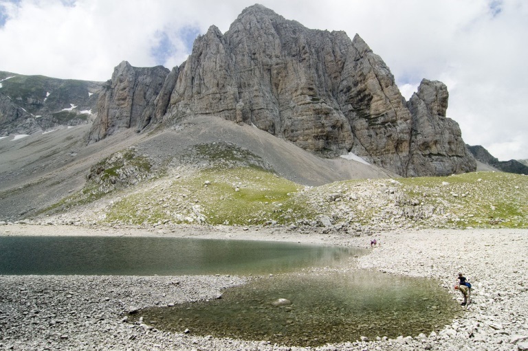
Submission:
[[98,117],[88,141],[98,141],[126,128],[141,131],[152,119],[154,101],[168,73],[162,66],[138,68],[126,61],[115,67],[100,95]]

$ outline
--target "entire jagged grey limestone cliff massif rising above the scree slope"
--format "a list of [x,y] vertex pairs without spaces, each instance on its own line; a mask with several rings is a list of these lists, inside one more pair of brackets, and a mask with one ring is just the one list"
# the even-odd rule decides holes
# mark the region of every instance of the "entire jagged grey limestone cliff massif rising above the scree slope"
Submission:
[[318,155],[353,152],[403,176],[476,168],[458,124],[445,117],[443,84],[424,80],[407,103],[382,58],[360,36],[309,30],[262,5],[243,10],[225,34],[210,27],[170,74],[155,67],[156,88],[148,86],[141,104],[136,89],[143,96],[146,87],[137,70],[126,63],[116,67],[90,141],[120,128],[141,131],[216,115]]

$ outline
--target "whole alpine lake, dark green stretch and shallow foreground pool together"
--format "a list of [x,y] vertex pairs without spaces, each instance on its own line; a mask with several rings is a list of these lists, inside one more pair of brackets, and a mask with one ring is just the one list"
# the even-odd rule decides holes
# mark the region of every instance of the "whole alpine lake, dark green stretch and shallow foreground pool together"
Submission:
[[0,237],[1,275],[246,275],[221,298],[144,308],[158,330],[321,346],[440,330],[461,310],[439,282],[355,267],[366,249],[295,242]]

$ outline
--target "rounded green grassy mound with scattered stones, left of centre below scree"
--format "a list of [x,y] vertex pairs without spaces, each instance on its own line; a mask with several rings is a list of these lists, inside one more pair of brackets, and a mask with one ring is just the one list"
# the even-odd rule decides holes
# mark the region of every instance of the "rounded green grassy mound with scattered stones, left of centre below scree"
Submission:
[[115,203],[107,221],[126,224],[265,225],[314,218],[302,186],[259,168],[202,170]]

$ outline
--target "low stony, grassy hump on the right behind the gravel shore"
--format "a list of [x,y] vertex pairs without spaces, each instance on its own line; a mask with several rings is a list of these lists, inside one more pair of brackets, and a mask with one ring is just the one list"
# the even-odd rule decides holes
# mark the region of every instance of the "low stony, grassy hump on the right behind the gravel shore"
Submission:
[[518,174],[344,181],[310,192],[321,213],[356,227],[528,227],[528,178]]

